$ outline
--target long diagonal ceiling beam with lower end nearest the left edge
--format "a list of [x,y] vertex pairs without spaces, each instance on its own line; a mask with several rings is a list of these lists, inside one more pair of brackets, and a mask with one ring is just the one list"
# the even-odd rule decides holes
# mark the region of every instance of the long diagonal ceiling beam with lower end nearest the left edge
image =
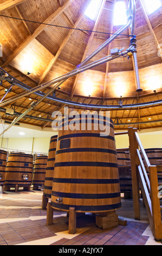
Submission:
[[43,24],[41,24],[37,29],[35,29],[35,31],[33,32],[33,34],[29,35],[27,39],[25,39],[24,42],[22,42],[22,44],[20,46],[18,46],[18,48],[11,53],[11,55],[9,56],[9,58],[6,60],[6,62],[2,65],[2,67],[4,68],[5,66],[7,66],[27,45],[30,44],[31,41],[33,41],[33,39],[36,38],[36,36],[38,36],[47,26],[48,24],[50,24],[51,22],[53,22],[57,16],[59,16],[60,14],[62,14],[62,12],[70,5],[74,2],[75,0],[68,0],[62,7],[59,7],[53,14],[51,14],[44,22]]

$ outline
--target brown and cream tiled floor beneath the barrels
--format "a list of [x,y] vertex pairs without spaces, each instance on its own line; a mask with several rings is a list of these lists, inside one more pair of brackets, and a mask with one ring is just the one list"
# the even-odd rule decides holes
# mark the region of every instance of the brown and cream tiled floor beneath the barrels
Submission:
[[127,225],[99,229],[95,216],[77,218],[76,234],[68,234],[66,212],[54,211],[54,224],[46,225],[46,210],[41,209],[42,191],[5,192],[0,197],[0,245],[162,245],[152,236],[146,209],[140,201],[141,220],[133,219],[133,201],[122,199],[116,214]]

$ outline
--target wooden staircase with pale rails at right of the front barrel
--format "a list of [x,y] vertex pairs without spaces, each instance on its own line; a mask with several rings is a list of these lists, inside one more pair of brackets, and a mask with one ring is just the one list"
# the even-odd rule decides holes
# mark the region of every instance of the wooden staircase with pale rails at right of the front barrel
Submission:
[[150,164],[136,128],[129,127],[128,132],[115,133],[115,135],[123,134],[128,134],[129,136],[134,219],[140,220],[139,199],[141,191],[152,234],[156,241],[161,241],[160,199],[162,198],[162,183],[158,182],[158,177],[162,175],[162,165],[153,166]]

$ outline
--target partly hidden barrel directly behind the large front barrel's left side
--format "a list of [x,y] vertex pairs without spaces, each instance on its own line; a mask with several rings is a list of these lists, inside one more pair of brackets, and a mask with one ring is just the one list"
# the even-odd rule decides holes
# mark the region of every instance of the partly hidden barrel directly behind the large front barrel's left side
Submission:
[[56,145],[57,145],[57,135],[52,136],[50,138],[50,144],[49,144],[46,177],[45,177],[44,190],[43,190],[43,194],[47,198],[51,198],[54,166],[55,166]]

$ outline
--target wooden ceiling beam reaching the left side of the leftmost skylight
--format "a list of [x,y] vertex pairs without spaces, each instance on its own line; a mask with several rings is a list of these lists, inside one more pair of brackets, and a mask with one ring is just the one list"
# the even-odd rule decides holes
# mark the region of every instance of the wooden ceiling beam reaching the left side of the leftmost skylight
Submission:
[[[88,4],[89,4],[90,0],[88,0]],[[87,5],[86,5],[87,8]],[[85,9],[86,9],[85,8]],[[73,26],[73,28],[76,28],[77,25],[79,25],[79,22],[81,21],[82,17],[85,15],[85,9],[82,11],[79,19],[77,19],[77,21],[75,22],[75,25]],[[47,69],[44,71],[43,75],[40,78],[40,82],[39,84],[41,84],[41,82],[43,81],[43,79],[47,76],[48,72],[50,71],[50,69],[52,68],[52,66],[55,64],[57,58],[59,58],[59,55],[61,54],[64,46],[67,44],[67,42],[70,39],[70,36],[72,35],[72,33],[74,32],[74,29],[70,29],[69,34],[67,35],[67,37],[63,40],[62,44],[59,47],[59,50],[57,51],[56,55],[53,57],[53,59],[51,59],[49,65],[47,66]]]

